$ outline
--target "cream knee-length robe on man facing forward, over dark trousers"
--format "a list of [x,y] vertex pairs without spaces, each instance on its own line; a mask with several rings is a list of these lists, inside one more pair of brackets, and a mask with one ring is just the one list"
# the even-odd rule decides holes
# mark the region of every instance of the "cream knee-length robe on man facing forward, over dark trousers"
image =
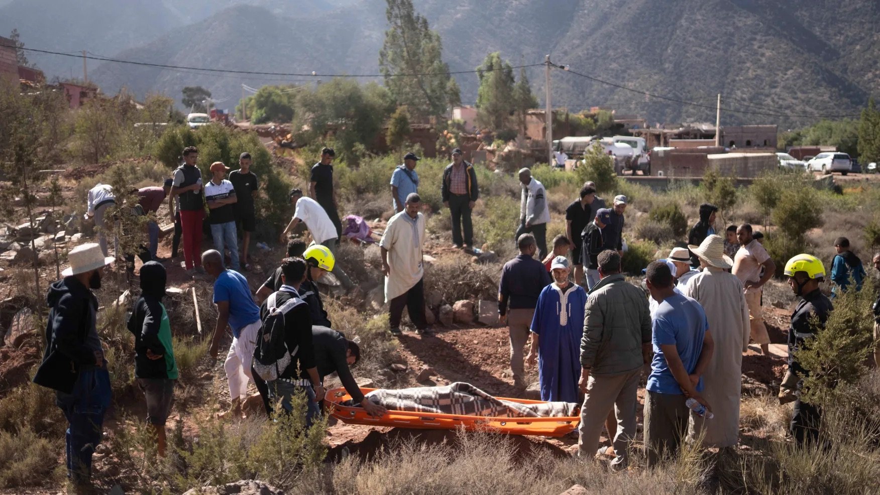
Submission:
[[391,275],[385,277],[385,302],[407,291],[422,280],[422,244],[425,241],[425,215],[412,218],[407,210],[391,217],[379,246],[388,251]]

